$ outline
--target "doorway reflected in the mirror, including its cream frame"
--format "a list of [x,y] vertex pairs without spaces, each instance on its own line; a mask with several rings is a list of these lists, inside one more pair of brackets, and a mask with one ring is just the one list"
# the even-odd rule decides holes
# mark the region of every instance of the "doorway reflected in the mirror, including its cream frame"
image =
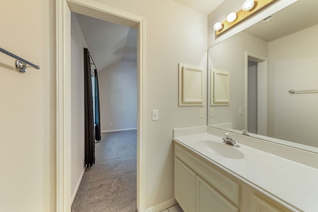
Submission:
[[267,58],[245,53],[245,129],[267,136]]

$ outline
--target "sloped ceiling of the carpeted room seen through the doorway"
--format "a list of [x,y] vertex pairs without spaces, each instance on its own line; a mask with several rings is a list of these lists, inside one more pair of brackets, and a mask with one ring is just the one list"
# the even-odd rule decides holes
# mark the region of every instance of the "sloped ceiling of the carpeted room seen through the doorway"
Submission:
[[120,61],[137,61],[137,30],[76,13],[98,71]]

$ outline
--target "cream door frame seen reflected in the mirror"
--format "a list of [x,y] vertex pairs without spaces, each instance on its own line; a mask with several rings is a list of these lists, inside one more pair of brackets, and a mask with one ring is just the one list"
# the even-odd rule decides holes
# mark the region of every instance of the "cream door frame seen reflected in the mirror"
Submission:
[[247,130],[247,91],[248,91],[248,61],[257,63],[257,134],[267,136],[268,133],[268,59],[251,53],[245,52],[245,130]]

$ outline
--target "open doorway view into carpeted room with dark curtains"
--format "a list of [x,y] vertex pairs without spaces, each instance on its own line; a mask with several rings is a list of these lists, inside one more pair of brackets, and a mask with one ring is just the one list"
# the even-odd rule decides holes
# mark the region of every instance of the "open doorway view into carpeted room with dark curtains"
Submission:
[[[95,203],[90,206],[93,211],[103,207],[107,207],[105,212],[135,211],[137,30],[75,12],[71,15],[71,26],[72,211],[85,211],[90,202]],[[100,142],[95,141],[95,165],[86,169],[82,165],[85,138],[83,48],[88,48],[91,58],[93,108],[98,76],[98,125],[102,132]],[[95,113],[93,115],[95,117]],[[115,164],[116,169],[113,168]],[[111,187],[117,189],[111,190]],[[120,204],[123,199],[125,204]]]

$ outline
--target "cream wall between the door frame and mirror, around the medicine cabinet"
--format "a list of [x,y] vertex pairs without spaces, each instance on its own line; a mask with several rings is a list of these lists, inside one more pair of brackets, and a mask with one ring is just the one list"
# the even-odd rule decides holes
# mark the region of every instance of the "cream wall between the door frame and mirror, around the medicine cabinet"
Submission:
[[[173,199],[172,129],[207,123],[206,104],[204,118],[199,118],[202,107],[178,107],[178,63],[207,64],[207,16],[173,0],[98,1],[146,20],[145,196],[150,208]],[[152,109],[159,110],[159,121],[151,121]]]

